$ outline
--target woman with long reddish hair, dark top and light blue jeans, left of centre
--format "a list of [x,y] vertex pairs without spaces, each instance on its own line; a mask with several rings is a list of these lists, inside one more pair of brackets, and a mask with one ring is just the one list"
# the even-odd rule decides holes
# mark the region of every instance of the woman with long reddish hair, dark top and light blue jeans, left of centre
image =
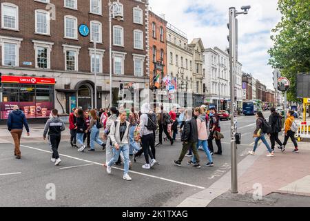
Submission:
[[102,146],[102,148],[104,149],[105,145],[103,144],[103,141],[99,139],[100,128],[102,127],[99,116],[96,115],[95,110],[90,111],[90,116],[92,117],[92,119],[90,120],[90,126],[88,126],[85,131],[85,133],[88,133],[90,131],[90,149],[88,151],[95,151],[95,142]]

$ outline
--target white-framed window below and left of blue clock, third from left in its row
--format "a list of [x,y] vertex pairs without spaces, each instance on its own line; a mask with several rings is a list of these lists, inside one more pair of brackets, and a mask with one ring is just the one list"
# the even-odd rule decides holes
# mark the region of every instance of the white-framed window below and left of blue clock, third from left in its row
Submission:
[[[79,52],[81,46],[63,44],[63,54],[65,55],[65,70],[79,70]],[[99,68],[100,69],[100,68]]]

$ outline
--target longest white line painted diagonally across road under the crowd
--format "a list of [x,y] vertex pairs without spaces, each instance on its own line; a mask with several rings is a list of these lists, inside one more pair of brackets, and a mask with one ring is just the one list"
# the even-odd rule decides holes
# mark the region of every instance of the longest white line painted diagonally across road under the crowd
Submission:
[[[25,146],[25,145],[21,145],[23,147],[26,147],[26,148],[30,148],[30,149],[33,149],[33,150],[37,150],[37,151],[42,151],[42,152],[45,152],[45,153],[52,153],[51,151],[45,151],[45,150],[41,150],[40,148],[35,148],[35,147],[32,147],[32,146]],[[69,156],[69,155],[64,155],[64,154],[59,154],[63,157],[68,157],[68,158],[71,158],[71,159],[74,159],[74,160],[79,160],[79,161],[83,161],[83,162],[89,162],[89,163],[92,163],[92,164],[96,164],[96,165],[100,165],[100,166],[103,166],[103,164],[101,163],[98,163],[98,162],[92,162],[90,160],[83,160],[81,158],[76,158],[76,157],[72,157],[72,156]],[[119,171],[124,171],[123,169],[121,168],[116,168],[114,166],[112,166],[113,169],[116,169],[116,170],[119,170]],[[146,177],[152,177],[152,178],[155,178],[155,179],[158,179],[158,180],[165,180],[165,181],[168,181],[168,182],[174,182],[176,184],[182,184],[182,185],[185,185],[185,186],[192,186],[192,187],[196,187],[198,189],[205,189],[205,187],[203,186],[196,186],[196,185],[193,185],[193,184],[187,184],[185,182],[178,182],[176,180],[169,180],[167,178],[164,178],[164,177],[158,177],[158,176],[155,176],[155,175],[149,175],[149,174],[145,174],[145,173],[139,173],[139,172],[136,172],[136,171],[129,171],[130,173],[134,173],[134,174],[138,174],[138,175],[144,175]]]

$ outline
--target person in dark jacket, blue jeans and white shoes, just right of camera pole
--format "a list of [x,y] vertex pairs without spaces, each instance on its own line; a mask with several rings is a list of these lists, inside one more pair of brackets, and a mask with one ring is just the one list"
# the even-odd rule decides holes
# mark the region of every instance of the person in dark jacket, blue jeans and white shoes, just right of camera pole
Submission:
[[249,155],[255,155],[255,151],[256,148],[258,147],[258,141],[262,140],[262,142],[265,144],[265,146],[267,147],[269,154],[267,154],[267,157],[273,157],[274,153],[272,152],[266,138],[265,138],[265,134],[266,133],[271,133],[271,126],[269,125],[269,123],[266,121],[264,115],[262,115],[261,111],[258,111],[258,113],[256,113],[256,129],[254,131],[254,135],[253,137],[256,137],[255,139],[255,144],[254,144],[254,148],[253,151],[249,151]]

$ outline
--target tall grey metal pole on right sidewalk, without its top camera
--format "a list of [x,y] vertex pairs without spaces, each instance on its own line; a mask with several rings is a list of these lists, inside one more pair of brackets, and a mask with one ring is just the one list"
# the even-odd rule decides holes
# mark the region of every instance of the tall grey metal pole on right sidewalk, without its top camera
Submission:
[[230,110],[231,110],[231,193],[238,193],[237,145],[234,122],[234,75],[236,72],[236,8],[229,8],[229,66],[230,66]]

